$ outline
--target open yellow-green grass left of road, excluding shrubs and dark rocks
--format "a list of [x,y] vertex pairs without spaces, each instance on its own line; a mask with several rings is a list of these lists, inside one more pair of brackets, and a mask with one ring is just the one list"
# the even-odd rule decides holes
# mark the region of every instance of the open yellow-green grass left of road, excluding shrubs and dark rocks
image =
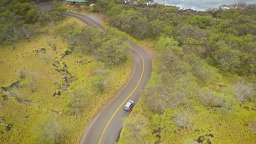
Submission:
[[[84,26],[82,22],[71,17],[67,17],[58,26],[65,26],[73,21],[77,21],[78,26]],[[14,88],[13,91],[15,91],[16,97],[22,99],[20,103],[15,97],[4,92],[4,95],[8,95],[8,100],[4,100],[3,94],[1,94],[0,117],[5,120],[5,125],[0,125],[0,131],[4,131],[3,135],[0,134],[0,143],[37,143],[37,136],[40,133],[37,125],[45,121],[49,115],[55,115],[57,121],[62,123],[63,128],[65,127],[66,132],[62,143],[78,143],[90,119],[129,80],[133,62],[131,55],[125,63],[110,68],[109,79],[111,81],[108,86],[102,94],[94,93],[92,95],[90,103],[86,105],[79,116],[65,113],[66,102],[75,88],[94,88],[90,82],[95,69],[100,65],[91,56],[80,55],[76,52],[66,58],[61,58],[60,55],[67,50],[68,44],[60,37],[54,38],[50,29],[50,37],[45,35],[46,29],[48,27],[40,28],[40,34],[31,39],[30,43],[20,40],[15,44],[16,50],[13,50],[10,45],[4,45],[0,49],[0,60],[4,62],[0,64],[0,86],[7,87],[13,82],[21,81],[21,88]],[[53,44],[57,45],[56,51],[51,48]],[[42,48],[46,52],[36,55],[35,50]],[[45,59],[48,59],[49,63]],[[77,63],[82,59],[87,59],[90,63]],[[63,81],[63,75],[57,72],[53,66],[56,60],[60,64],[65,62],[68,72],[78,80],[70,83],[71,86],[67,91],[61,91],[60,96],[53,97],[54,92],[59,91],[57,86]],[[24,69],[26,75],[23,79],[18,75],[18,70],[21,69]],[[35,92],[31,92],[31,80],[35,81]],[[24,100],[25,97],[28,101]],[[13,125],[10,131],[5,130],[8,124]]]

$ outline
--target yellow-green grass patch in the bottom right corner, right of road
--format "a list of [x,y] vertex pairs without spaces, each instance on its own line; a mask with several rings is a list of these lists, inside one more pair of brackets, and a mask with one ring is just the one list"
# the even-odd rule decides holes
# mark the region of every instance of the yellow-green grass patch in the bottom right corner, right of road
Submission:
[[[191,116],[189,129],[177,130],[172,143],[197,140],[200,136],[212,143],[254,143],[255,135],[249,131],[248,123],[254,121],[255,111],[237,107],[235,111],[220,115],[206,109]],[[207,135],[212,136],[207,136]]]

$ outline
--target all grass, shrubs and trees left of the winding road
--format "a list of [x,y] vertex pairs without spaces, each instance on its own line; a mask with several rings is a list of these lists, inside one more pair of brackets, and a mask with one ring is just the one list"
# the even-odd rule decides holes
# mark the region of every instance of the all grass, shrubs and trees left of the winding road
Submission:
[[59,3],[0,7],[0,143],[78,143],[129,79],[127,34],[85,27]]

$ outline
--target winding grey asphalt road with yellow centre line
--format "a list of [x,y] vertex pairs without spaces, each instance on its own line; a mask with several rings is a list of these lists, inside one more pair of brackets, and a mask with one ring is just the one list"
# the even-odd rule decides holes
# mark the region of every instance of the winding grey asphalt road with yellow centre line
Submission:
[[[104,29],[100,22],[90,18],[90,15],[66,13],[86,25]],[[123,118],[127,117],[130,112],[123,109],[127,100],[137,103],[141,90],[146,86],[152,73],[151,59],[147,53],[138,45],[130,42],[131,53],[134,58],[133,70],[130,80],[120,89],[117,97],[107,106],[104,106],[101,112],[92,119],[91,123],[85,129],[80,143],[86,144],[114,144],[117,142],[120,130],[123,124]]]

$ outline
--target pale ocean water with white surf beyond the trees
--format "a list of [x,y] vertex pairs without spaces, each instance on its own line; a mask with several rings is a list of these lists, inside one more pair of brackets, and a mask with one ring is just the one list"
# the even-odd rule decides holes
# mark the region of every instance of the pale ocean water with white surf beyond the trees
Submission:
[[[239,0],[154,0],[162,4],[175,5],[181,9],[207,10],[208,8],[218,8],[222,4],[237,3]],[[244,0],[247,4],[256,4],[256,0]]]

